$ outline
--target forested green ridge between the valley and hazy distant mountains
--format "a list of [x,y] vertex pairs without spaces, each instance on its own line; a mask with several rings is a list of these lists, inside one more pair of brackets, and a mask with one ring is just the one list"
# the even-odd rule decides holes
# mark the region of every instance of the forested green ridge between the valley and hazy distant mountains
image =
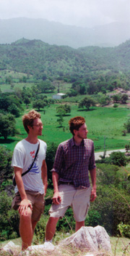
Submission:
[[20,39],[12,44],[0,45],[0,69],[30,73],[41,78],[78,73],[90,76],[93,71],[129,73],[130,41],[118,47],[71,47],[45,44],[40,40]]

